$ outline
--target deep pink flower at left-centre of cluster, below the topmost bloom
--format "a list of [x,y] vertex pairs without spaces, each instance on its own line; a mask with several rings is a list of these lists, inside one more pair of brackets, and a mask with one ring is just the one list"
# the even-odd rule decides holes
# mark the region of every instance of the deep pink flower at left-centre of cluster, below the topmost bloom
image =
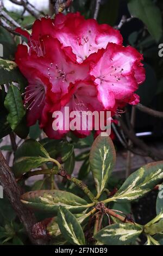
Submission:
[[60,42],[51,36],[42,36],[39,42],[30,38],[30,48],[18,45],[16,63],[23,75],[30,77],[30,69],[40,71],[52,83],[53,93],[67,93],[72,82],[85,79],[89,75],[88,64],[75,64],[61,49]]

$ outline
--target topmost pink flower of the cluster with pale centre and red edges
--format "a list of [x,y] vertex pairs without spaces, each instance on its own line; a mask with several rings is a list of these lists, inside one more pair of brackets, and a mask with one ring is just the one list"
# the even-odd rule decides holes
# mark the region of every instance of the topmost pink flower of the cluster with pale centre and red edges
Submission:
[[54,24],[56,38],[68,54],[71,51],[74,53],[78,63],[82,63],[99,49],[105,49],[109,42],[121,45],[123,41],[116,29],[106,24],[99,25],[94,19],[85,20],[79,13],[66,16],[59,14]]

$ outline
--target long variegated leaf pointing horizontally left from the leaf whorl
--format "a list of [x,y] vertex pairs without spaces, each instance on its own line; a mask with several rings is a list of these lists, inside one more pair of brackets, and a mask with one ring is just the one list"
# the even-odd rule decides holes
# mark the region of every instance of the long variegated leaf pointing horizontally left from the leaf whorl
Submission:
[[60,190],[40,190],[27,192],[21,196],[22,203],[29,208],[56,214],[59,206],[79,213],[89,207],[87,202],[75,194]]

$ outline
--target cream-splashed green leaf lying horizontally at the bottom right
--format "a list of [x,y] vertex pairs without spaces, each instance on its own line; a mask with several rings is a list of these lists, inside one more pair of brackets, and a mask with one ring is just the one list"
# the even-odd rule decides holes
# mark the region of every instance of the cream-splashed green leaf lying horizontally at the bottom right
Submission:
[[94,237],[104,245],[129,245],[142,231],[134,224],[117,223],[103,228]]

